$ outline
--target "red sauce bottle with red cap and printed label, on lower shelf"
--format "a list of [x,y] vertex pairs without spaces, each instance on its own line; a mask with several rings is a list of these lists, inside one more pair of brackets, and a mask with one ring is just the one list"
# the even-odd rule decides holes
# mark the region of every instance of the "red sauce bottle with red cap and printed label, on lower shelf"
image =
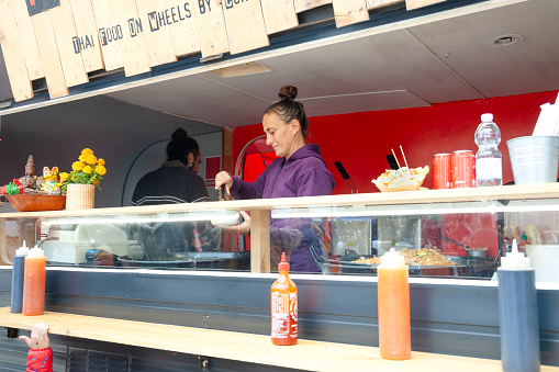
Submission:
[[297,285],[289,279],[289,263],[281,253],[279,278],[271,285],[271,343],[295,345],[298,339]]

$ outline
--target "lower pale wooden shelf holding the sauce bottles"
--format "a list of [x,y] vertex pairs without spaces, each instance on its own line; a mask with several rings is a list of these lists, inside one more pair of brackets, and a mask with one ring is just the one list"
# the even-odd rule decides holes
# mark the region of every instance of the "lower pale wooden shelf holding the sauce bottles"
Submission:
[[414,351],[410,360],[388,361],[373,347],[301,339],[297,346],[278,347],[262,335],[52,312],[23,316],[0,308],[2,327],[31,329],[38,322],[48,323],[56,335],[308,371],[502,371],[499,360]]

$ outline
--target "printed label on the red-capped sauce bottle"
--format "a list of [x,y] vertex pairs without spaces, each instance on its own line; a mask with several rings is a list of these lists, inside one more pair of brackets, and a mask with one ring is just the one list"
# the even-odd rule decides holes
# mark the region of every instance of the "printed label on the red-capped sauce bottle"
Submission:
[[273,292],[271,314],[271,337],[297,338],[297,291],[292,293]]

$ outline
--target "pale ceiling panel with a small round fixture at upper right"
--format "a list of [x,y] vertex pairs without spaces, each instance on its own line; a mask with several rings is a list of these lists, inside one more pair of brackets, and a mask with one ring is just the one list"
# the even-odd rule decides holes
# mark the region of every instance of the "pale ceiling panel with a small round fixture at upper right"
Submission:
[[[410,31],[485,97],[559,88],[558,0],[530,0]],[[488,43],[506,34],[525,40],[508,46]]]

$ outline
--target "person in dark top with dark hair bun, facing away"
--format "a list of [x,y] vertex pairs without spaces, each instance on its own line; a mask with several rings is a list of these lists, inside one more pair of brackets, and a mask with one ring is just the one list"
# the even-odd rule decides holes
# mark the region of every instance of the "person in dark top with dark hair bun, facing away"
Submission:
[[[176,129],[167,144],[167,161],[139,179],[132,194],[132,205],[209,202],[204,180],[198,176],[202,159],[198,142],[187,131]],[[195,224],[143,224],[137,232],[138,244],[147,259],[167,253],[201,250]]]

